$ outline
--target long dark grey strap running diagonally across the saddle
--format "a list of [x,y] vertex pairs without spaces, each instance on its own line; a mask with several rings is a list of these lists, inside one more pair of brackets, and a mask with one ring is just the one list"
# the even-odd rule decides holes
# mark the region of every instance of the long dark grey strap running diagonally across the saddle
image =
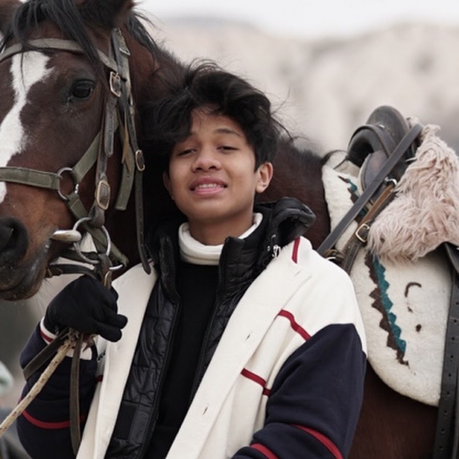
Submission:
[[338,239],[341,237],[346,228],[350,223],[359,215],[360,211],[367,205],[367,202],[373,196],[375,191],[384,182],[387,175],[400,161],[404,152],[410,147],[410,145],[416,140],[422,131],[421,124],[415,124],[411,129],[404,135],[400,143],[395,147],[392,154],[389,156],[387,161],[382,165],[381,169],[375,176],[374,180],[365,189],[365,191],[359,196],[354,202],[354,205],[349,209],[346,215],[337,224],[335,229],[325,238],[322,244],[319,246],[317,251],[323,256],[326,250],[331,249],[335,246]]

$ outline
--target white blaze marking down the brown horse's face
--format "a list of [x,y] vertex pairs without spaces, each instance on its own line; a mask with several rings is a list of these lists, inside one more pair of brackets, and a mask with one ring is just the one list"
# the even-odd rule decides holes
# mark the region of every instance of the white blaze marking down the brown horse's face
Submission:
[[[46,68],[49,57],[37,51],[16,54],[11,58],[14,103],[0,124],[0,167],[6,166],[13,156],[20,154],[27,144],[27,135],[20,114],[28,103],[28,94],[35,83],[43,81],[50,73]],[[0,202],[6,196],[6,183],[0,182]]]

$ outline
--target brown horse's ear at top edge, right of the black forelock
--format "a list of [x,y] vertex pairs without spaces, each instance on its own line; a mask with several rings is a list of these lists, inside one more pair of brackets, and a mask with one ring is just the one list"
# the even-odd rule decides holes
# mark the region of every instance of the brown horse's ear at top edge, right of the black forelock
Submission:
[[82,17],[107,30],[120,27],[134,8],[132,0],[77,0]]

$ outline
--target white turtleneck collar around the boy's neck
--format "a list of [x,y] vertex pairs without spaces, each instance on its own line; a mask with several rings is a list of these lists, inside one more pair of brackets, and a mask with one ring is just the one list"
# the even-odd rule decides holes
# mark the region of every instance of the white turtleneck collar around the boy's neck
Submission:
[[[246,232],[241,234],[239,239],[245,239],[252,234],[263,220],[260,213],[253,214],[253,224]],[[188,222],[182,223],[179,227],[180,255],[183,261],[194,265],[218,265],[223,244],[205,245],[196,241],[190,234]]]

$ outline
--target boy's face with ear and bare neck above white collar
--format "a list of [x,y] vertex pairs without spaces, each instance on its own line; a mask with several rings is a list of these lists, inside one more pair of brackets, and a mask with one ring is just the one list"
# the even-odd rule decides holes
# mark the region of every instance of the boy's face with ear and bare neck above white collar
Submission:
[[216,245],[252,225],[255,194],[271,177],[271,163],[255,170],[253,148],[236,121],[197,109],[190,136],[172,149],[164,183],[188,217],[191,235]]

